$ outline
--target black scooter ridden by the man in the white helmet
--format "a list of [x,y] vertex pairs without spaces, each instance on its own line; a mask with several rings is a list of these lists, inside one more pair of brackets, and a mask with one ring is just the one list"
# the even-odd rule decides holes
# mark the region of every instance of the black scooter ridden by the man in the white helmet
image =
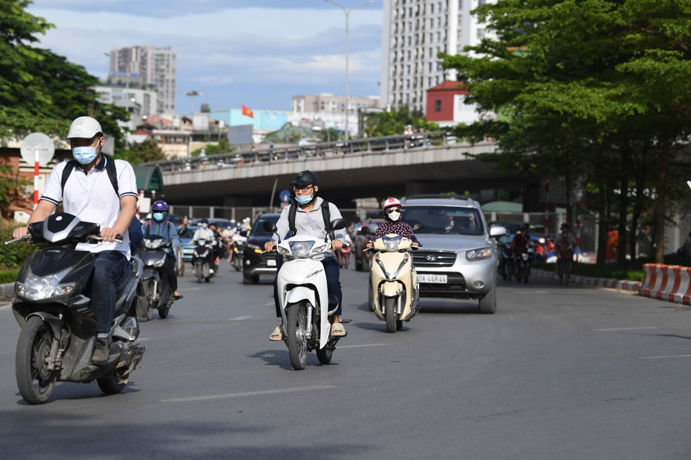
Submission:
[[57,213],[30,224],[28,230],[27,236],[5,243],[28,240],[44,247],[24,262],[15,282],[12,311],[21,326],[15,369],[21,397],[29,404],[45,403],[56,381],[96,380],[106,394],[121,392],[144,354],[137,343],[135,298],[143,273],[141,260],[131,260],[131,271],[118,293],[110,356],[94,364],[98,321],[85,294],[95,259],[93,253],[77,251],[75,246],[101,241],[100,225]]

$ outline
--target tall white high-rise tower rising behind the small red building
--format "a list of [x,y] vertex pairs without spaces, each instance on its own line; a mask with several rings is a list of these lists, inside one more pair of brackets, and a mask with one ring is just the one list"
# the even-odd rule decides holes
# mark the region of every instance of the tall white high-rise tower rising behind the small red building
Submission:
[[408,104],[424,112],[426,90],[455,74],[437,53],[455,55],[486,35],[471,10],[495,0],[384,0],[381,106]]

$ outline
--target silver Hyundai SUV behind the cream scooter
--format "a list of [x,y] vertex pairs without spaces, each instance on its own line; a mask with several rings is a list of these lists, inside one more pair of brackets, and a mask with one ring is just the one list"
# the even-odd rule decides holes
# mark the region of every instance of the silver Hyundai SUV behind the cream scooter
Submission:
[[401,200],[403,219],[422,249],[413,252],[420,297],[479,299],[480,313],[497,306],[497,247],[504,227],[487,229],[480,204],[456,195],[412,195]]

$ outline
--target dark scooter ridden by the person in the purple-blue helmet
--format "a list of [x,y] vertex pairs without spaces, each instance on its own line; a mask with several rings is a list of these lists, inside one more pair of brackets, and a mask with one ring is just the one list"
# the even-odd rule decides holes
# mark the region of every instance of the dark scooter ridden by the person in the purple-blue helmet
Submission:
[[[187,227],[180,228],[180,236],[187,233]],[[141,308],[142,320],[153,319],[153,310],[158,309],[159,318],[167,318],[171,305],[175,301],[173,289],[165,282],[162,274],[163,265],[169,257],[165,248],[172,247],[173,243],[164,240],[162,236],[146,236],[142,241],[137,256],[144,262],[144,276],[138,287],[138,298]]]

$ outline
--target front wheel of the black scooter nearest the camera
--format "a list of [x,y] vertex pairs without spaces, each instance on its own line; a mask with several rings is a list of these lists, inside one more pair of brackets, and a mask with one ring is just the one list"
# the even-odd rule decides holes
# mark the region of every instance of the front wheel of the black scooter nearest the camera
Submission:
[[53,394],[57,373],[48,370],[47,362],[53,339],[50,328],[38,316],[29,318],[21,328],[15,371],[19,393],[29,404],[43,404]]

